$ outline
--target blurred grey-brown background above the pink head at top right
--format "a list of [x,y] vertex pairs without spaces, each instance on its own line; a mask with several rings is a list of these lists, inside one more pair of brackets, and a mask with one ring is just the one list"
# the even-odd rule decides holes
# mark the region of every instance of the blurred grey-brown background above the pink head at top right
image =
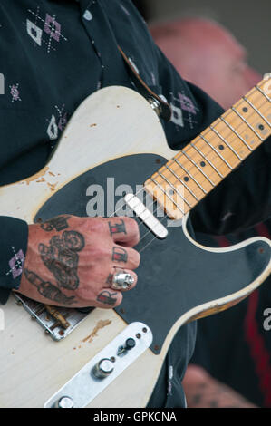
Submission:
[[247,48],[259,73],[271,71],[270,0],[134,0],[148,23],[190,15],[223,24]]

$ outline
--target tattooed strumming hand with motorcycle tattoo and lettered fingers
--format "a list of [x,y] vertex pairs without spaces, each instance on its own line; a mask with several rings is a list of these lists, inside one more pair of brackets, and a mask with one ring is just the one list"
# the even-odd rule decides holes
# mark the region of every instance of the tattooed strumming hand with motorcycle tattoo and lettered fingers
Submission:
[[60,306],[111,308],[121,304],[121,291],[111,288],[120,270],[131,274],[140,264],[134,250],[139,228],[131,218],[58,216],[29,226],[19,293]]

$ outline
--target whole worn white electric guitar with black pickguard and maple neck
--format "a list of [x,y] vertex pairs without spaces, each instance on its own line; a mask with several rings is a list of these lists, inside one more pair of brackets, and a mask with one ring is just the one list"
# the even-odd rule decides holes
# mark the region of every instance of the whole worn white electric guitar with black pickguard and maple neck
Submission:
[[266,74],[176,152],[155,105],[127,88],[102,89],[74,112],[44,169],[0,189],[0,215],[33,223],[129,214],[141,236],[138,284],[115,309],[10,297],[0,406],[144,407],[179,327],[236,305],[266,279],[270,240],[203,247],[187,224],[189,210],[270,136],[270,96]]

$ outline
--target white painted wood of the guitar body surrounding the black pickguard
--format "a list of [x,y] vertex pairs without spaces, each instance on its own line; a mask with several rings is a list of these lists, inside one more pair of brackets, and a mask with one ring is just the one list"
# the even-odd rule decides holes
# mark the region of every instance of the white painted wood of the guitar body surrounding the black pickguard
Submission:
[[[121,128],[118,121],[121,121]],[[75,111],[46,167],[30,179],[0,189],[0,215],[32,223],[46,199],[67,182],[102,163],[139,153],[155,153],[166,159],[176,153],[169,149],[160,121],[150,104],[138,93],[124,88],[111,87],[96,92]],[[186,221],[183,232],[190,238],[185,224]],[[270,247],[266,238],[253,240],[263,241]],[[227,249],[201,248],[225,252],[245,247],[251,241]],[[198,245],[194,241],[193,244]],[[181,324],[235,305],[269,274],[270,262],[246,288],[234,295],[195,306],[182,315],[171,327],[159,354],[147,349],[87,406],[145,407],[169,344]],[[54,392],[127,326],[114,310],[95,309],[72,334],[54,342],[22,307],[15,305],[14,297],[10,297],[2,309],[5,329],[0,331],[1,407],[43,407]],[[86,340],[90,335],[92,338]]]

